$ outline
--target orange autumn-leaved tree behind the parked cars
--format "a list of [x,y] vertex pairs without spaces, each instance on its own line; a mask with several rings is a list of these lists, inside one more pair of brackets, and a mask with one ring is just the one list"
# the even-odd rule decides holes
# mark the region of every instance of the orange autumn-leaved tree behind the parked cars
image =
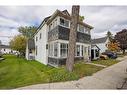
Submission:
[[107,48],[109,51],[117,52],[120,50],[119,42],[117,42],[115,39],[112,39],[112,41],[108,42]]

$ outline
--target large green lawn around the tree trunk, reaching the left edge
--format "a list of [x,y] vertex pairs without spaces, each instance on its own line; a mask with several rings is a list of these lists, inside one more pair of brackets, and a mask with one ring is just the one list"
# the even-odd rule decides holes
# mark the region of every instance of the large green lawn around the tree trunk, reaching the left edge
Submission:
[[77,80],[103,69],[93,65],[78,63],[69,73],[62,68],[45,66],[37,61],[27,61],[12,55],[4,55],[0,61],[0,89],[12,89],[38,83]]

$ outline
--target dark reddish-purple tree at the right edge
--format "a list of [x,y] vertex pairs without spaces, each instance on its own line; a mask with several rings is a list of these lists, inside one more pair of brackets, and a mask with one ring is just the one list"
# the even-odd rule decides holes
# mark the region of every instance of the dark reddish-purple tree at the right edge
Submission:
[[127,49],[127,29],[123,29],[122,31],[118,32],[115,35],[115,39],[119,42],[120,48],[124,54],[125,50]]

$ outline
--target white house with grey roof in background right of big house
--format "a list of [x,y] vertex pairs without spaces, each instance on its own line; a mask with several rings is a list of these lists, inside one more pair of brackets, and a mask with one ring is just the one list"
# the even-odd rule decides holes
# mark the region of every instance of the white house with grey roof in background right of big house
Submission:
[[105,52],[107,48],[107,44],[109,42],[108,37],[102,37],[102,38],[97,38],[92,40],[92,45],[97,45],[97,47],[100,48],[100,53]]

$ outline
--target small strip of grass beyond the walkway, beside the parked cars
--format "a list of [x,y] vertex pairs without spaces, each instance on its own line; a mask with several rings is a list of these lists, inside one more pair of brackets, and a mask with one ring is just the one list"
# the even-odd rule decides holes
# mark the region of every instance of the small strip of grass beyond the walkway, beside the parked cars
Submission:
[[107,59],[107,60],[95,60],[95,61],[92,61],[92,63],[95,63],[95,64],[101,64],[101,65],[105,65],[105,66],[111,66],[113,64],[116,64],[118,63],[119,61],[116,60],[116,59]]

